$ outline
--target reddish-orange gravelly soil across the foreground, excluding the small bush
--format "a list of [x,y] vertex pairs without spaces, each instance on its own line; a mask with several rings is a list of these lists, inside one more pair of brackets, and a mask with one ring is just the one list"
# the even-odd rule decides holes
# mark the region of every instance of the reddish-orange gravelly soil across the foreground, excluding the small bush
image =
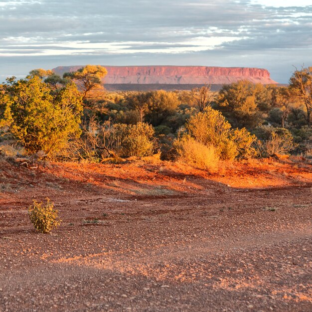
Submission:
[[[32,199],[62,218],[35,232]],[[312,311],[312,165],[0,160],[0,311]]]

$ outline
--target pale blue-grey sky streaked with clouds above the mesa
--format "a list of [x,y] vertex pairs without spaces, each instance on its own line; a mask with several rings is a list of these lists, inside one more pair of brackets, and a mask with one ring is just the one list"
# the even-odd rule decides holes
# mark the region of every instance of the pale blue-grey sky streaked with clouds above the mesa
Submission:
[[0,81],[66,65],[312,66],[312,0],[0,0]]

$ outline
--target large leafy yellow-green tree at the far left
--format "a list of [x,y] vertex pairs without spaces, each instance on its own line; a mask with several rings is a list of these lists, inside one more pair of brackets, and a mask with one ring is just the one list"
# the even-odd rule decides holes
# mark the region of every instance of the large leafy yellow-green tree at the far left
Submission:
[[80,135],[81,95],[74,84],[66,85],[56,97],[38,76],[8,80],[1,89],[0,107],[5,107],[5,113],[0,125],[28,154],[43,151],[53,156],[71,137]]

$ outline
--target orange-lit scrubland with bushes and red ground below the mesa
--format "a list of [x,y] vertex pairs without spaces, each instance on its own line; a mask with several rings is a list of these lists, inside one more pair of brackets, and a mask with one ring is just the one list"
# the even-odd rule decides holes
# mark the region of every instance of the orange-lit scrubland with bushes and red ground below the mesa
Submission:
[[311,311],[312,74],[0,85],[0,311]]

